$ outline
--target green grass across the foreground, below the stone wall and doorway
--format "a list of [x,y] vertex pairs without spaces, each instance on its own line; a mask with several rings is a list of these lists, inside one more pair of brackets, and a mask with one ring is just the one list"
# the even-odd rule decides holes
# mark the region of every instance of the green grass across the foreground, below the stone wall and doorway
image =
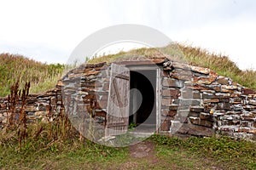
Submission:
[[[42,126],[43,131],[35,138]],[[80,140],[75,131],[64,139],[59,127],[49,124],[29,125],[27,132],[20,148],[15,131],[1,131],[1,169],[256,168],[256,143],[225,137],[179,139],[153,135],[146,141],[154,145],[154,150],[146,157],[134,158],[129,147],[113,148]]]

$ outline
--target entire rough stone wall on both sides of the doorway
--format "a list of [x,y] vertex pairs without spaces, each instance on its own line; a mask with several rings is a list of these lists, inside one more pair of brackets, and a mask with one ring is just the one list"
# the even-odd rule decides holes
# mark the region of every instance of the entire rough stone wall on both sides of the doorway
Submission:
[[[212,136],[215,133],[256,140],[256,93],[207,68],[163,60],[161,68],[162,133]],[[56,88],[30,94],[27,122],[53,121],[65,110],[80,121],[93,117],[106,124],[111,66],[81,65],[67,72]],[[19,110],[20,105],[17,105]],[[7,98],[0,99],[0,125],[9,113]]]

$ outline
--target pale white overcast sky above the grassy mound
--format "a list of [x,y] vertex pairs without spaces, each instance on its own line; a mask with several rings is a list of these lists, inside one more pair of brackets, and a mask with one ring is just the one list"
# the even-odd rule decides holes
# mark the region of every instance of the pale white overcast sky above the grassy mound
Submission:
[[0,0],[0,7],[0,53],[66,63],[95,31],[139,24],[256,70],[254,0]]

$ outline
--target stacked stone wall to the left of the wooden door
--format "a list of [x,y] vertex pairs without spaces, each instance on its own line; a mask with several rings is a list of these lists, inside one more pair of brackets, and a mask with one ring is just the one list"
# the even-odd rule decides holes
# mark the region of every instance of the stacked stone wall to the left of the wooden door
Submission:
[[[104,124],[108,105],[109,67],[105,63],[81,65],[61,78],[55,89],[44,94],[29,94],[26,99],[27,123],[51,122],[61,110],[69,116],[79,118],[95,117]],[[10,115],[9,99],[0,98],[0,127],[8,122]],[[15,106],[19,119],[21,99]]]

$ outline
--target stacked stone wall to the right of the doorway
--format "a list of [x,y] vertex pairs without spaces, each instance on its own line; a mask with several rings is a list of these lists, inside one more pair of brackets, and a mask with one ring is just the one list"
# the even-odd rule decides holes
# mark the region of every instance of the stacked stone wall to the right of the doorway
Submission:
[[256,93],[207,68],[164,63],[162,131],[256,139]]

